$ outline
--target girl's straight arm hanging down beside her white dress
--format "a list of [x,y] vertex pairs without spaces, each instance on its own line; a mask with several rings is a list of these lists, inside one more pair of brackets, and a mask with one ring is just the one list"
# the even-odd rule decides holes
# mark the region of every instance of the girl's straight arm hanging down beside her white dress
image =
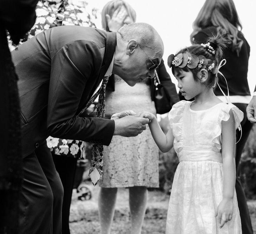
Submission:
[[216,216],[219,227],[232,219],[233,197],[236,182],[235,143],[236,129],[235,118],[232,110],[229,111],[228,121],[222,121],[222,158],[223,158],[223,199],[219,203]]

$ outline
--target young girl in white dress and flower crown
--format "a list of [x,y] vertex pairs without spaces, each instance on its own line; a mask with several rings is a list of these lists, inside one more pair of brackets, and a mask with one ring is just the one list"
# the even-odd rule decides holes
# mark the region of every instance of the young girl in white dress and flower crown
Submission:
[[[168,65],[186,100],[173,105],[165,135],[156,116],[152,136],[162,152],[172,147],[179,158],[168,207],[166,234],[240,234],[235,193],[235,131],[243,113],[213,92],[225,41],[220,34],[207,44],[170,55]],[[220,66],[219,66],[220,67]]]

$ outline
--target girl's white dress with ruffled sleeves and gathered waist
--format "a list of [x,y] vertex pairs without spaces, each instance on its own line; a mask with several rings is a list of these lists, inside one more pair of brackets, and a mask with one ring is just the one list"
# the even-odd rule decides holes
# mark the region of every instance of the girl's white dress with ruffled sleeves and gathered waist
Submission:
[[220,229],[215,211],[223,198],[221,122],[235,116],[236,128],[243,113],[233,104],[219,103],[203,111],[180,101],[169,112],[179,165],[173,179],[166,234],[241,234],[241,220],[234,193],[232,220]]

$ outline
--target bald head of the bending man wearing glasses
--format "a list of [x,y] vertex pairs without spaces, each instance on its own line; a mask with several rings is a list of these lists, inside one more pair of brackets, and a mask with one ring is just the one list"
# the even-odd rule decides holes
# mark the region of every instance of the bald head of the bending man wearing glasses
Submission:
[[113,73],[130,86],[153,78],[155,69],[163,57],[163,41],[151,25],[133,23],[117,32]]

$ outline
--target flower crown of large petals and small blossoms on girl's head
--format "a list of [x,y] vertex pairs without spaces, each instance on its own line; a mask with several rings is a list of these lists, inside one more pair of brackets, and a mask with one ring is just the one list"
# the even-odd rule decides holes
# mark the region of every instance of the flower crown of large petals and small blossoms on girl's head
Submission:
[[168,66],[183,68],[187,66],[190,69],[196,68],[198,71],[201,69],[208,69],[212,74],[217,74],[218,67],[217,61],[206,59],[203,55],[195,55],[190,53],[180,53],[177,56],[174,54],[168,57]]

